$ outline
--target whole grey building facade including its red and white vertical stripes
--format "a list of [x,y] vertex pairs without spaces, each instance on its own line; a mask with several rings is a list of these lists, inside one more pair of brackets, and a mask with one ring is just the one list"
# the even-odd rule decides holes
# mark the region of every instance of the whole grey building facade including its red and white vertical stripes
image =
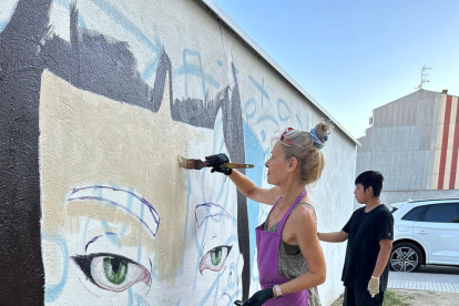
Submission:
[[459,196],[457,104],[420,90],[374,110],[374,125],[358,139],[356,175],[380,171],[386,204]]

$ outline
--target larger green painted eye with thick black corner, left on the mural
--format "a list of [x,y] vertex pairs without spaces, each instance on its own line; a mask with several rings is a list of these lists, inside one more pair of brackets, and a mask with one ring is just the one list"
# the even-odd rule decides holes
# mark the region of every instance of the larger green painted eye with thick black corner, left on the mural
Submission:
[[150,285],[147,269],[126,257],[99,253],[71,258],[80,266],[88,279],[102,289],[122,292],[139,282]]

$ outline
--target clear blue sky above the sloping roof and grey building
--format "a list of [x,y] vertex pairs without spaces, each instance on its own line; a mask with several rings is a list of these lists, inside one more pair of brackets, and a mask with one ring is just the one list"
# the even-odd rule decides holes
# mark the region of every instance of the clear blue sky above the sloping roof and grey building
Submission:
[[458,0],[214,0],[354,137],[424,89],[459,95]]

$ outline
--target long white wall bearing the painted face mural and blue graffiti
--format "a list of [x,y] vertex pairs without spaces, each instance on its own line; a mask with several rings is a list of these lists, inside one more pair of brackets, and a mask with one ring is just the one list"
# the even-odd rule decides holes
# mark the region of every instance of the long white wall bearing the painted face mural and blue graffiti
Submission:
[[[327,115],[208,8],[2,1],[0,68],[2,305],[232,305],[259,288],[268,207],[176,156],[226,152],[268,187],[271,136]],[[318,230],[338,231],[356,143],[335,129],[324,154],[309,190]],[[345,244],[323,247],[328,305]]]

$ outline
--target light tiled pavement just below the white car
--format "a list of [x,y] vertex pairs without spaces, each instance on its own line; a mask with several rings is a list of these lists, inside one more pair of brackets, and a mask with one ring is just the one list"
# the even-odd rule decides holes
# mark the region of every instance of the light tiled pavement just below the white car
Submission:
[[416,273],[390,272],[389,288],[459,293],[459,267],[428,266]]

